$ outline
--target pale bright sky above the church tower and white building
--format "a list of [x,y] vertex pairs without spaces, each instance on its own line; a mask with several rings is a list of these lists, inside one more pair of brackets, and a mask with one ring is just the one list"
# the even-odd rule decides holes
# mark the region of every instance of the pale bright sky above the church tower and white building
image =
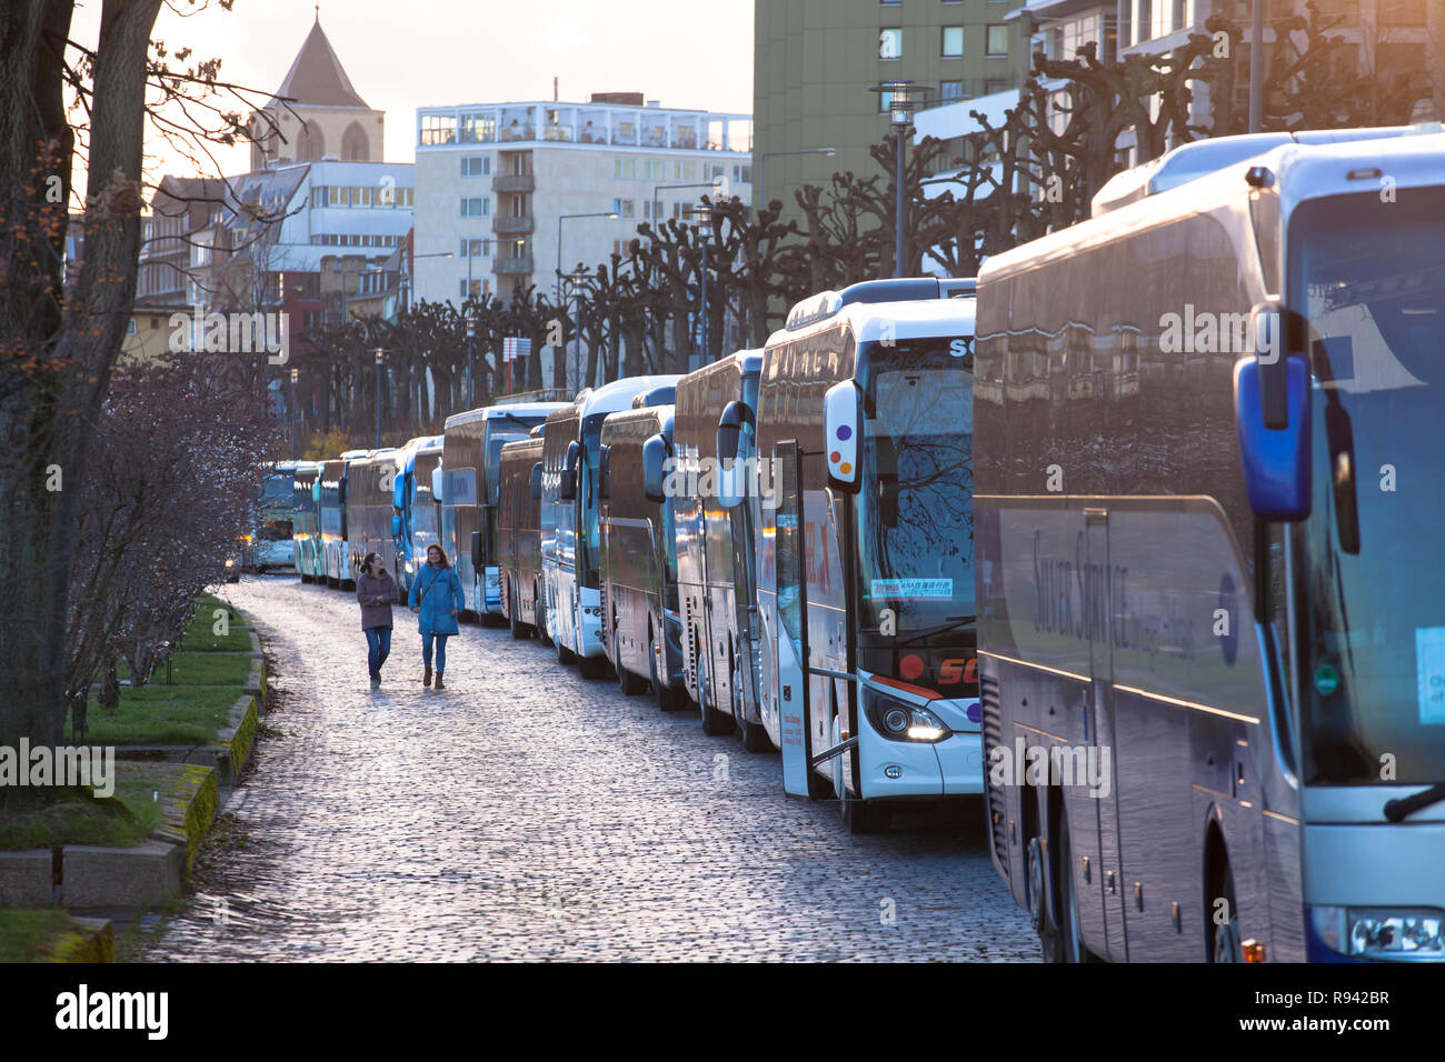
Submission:
[[[197,4],[199,6],[199,4]],[[155,38],[221,59],[220,77],[273,92],[315,20],[312,0],[168,0]],[[95,43],[100,0],[78,0],[72,38]],[[361,98],[386,111],[386,160],[412,162],[416,108],[643,92],[663,107],[753,110],[753,0],[321,0],[321,26]],[[191,166],[149,133],[146,178]],[[227,173],[250,166],[225,149]]]

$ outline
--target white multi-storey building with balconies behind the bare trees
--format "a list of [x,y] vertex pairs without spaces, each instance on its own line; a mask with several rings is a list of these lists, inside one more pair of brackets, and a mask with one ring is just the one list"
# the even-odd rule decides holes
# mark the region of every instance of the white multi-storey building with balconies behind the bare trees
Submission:
[[416,293],[460,305],[536,286],[565,298],[559,272],[626,256],[643,221],[681,218],[701,195],[750,202],[750,116],[631,92],[420,108]]

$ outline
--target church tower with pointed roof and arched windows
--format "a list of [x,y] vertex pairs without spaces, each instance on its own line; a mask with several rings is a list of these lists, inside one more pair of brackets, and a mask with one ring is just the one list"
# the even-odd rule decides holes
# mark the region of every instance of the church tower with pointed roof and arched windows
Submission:
[[[289,100],[289,103],[283,103]],[[386,113],[367,107],[316,22],[285,81],[251,116],[251,169],[269,163],[341,159],[381,162]]]

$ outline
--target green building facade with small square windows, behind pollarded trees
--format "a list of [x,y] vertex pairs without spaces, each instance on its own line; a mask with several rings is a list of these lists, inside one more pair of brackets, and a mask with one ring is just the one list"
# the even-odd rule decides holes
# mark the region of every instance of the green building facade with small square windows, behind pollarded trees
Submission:
[[[868,149],[889,133],[883,81],[913,81],[949,103],[1017,88],[1026,38],[1010,12],[1023,0],[757,0],[753,155],[757,202],[827,186],[835,172],[881,172]],[[1023,43],[1022,43],[1023,42]],[[837,155],[776,155],[834,147]]]

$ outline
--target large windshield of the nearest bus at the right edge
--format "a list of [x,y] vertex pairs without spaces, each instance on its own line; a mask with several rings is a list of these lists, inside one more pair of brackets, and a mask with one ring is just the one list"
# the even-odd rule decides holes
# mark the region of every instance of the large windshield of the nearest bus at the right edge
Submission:
[[1290,251],[1314,367],[1305,779],[1442,782],[1445,191],[1302,204]]

